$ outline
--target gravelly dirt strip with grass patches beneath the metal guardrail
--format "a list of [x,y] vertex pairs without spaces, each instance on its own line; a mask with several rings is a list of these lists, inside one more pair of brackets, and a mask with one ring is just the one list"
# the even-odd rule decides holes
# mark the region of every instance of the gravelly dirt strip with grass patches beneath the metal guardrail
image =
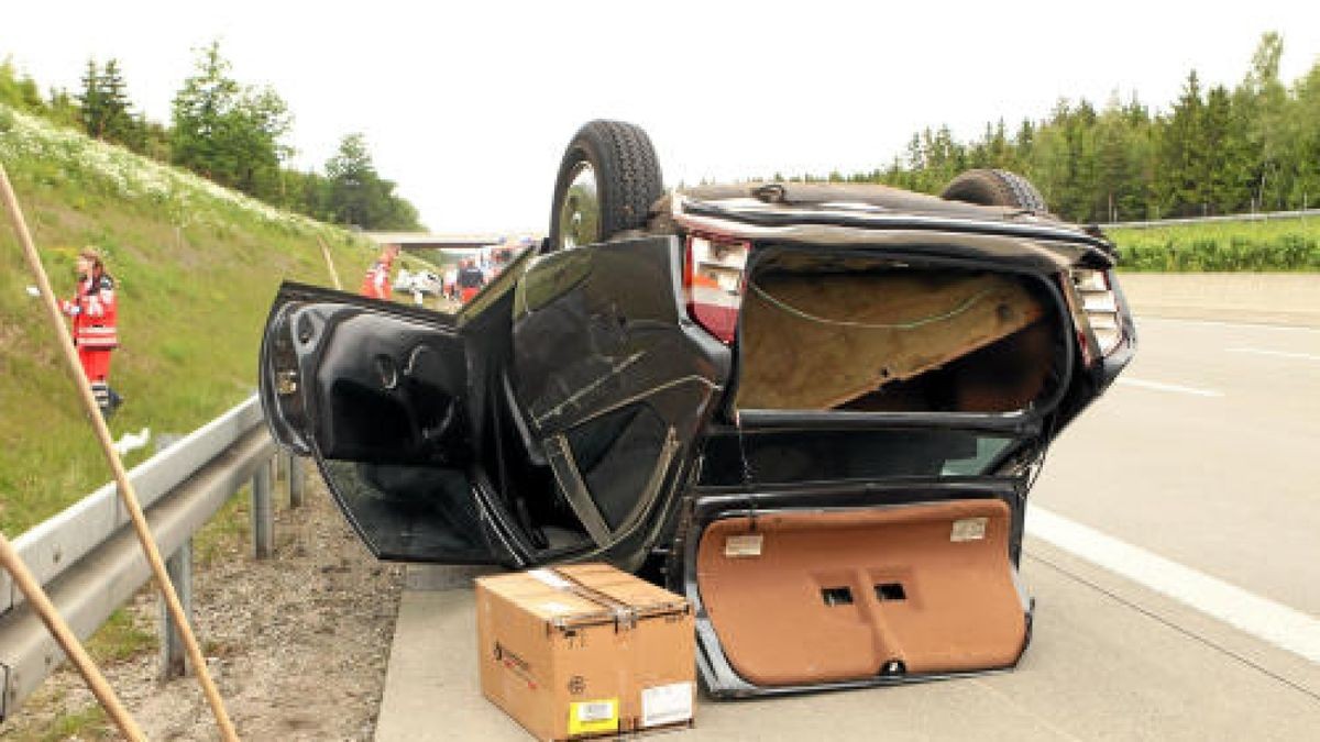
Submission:
[[[276,508],[273,558],[255,561],[247,529],[235,528],[195,566],[194,627],[244,739],[371,739],[403,569],[366,551],[314,474],[306,483],[300,510]],[[150,632],[157,601],[143,590],[131,605]],[[158,681],[154,650],[102,669],[150,739],[219,738],[197,680]],[[95,706],[65,667],[4,722],[0,739],[117,737]]]

